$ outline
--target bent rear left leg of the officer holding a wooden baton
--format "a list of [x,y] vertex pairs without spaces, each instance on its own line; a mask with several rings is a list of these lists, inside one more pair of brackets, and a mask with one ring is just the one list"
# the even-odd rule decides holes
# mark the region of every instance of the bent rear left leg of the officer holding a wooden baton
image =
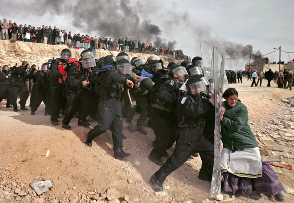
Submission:
[[110,125],[112,124],[116,112],[114,112],[116,102],[115,98],[107,99],[106,95],[100,97],[98,104],[98,125],[96,125],[92,130],[90,130],[87,134],[86,144],[88,146],[92,146],[92,141],[95,137],[103,134],[108,130]]

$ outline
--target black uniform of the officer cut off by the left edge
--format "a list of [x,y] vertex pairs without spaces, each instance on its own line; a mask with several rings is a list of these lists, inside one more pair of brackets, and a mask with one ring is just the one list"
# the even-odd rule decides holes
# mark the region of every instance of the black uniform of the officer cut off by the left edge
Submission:
[[[6,78],[8,76],[8,78]],[[0,102],[2,102],[3,99],[6,98],[6,107],[10,107],[11,104],[11,88],[10,88],[10,79],[11,79],[11,74],[8,71],[2,71],[0,73]]]

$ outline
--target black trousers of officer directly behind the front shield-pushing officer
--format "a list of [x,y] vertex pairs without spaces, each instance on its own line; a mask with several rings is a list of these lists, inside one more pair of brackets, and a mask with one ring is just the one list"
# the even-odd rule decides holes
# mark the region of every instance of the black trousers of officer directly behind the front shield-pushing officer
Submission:
[[174,113],[152,106],[150,106],[150,120],[155,134],[150,156],[159,159],[175,142],[178,122]]

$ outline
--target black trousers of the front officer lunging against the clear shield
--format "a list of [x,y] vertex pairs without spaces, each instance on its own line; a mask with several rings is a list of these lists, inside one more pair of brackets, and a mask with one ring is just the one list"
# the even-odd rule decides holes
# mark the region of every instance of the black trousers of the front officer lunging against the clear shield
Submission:
[[171,157],[153,175],[160,185],[163,184],[169,174],[183,165],[193,153],[199,153],[202,160],[199,176],[207,180],[212,177],[214,145],[203,136],[203,125],[188,128],[179,128],[178,138]]

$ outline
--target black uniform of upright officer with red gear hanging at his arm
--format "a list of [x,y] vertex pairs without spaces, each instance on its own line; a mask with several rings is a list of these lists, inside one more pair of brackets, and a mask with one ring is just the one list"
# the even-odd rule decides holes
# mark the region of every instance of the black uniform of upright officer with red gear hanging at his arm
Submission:
[[64,93],[65,84],[63,80],[59,83],[59,79],[62,79],[62,74],[58,71],[58,62],[63,65],[66,64],[66,60],[55,59],[50,67],[50,91],[51,91],[51,121],[56,121],[60,110],[64,110],[66,106],[66,97]]

